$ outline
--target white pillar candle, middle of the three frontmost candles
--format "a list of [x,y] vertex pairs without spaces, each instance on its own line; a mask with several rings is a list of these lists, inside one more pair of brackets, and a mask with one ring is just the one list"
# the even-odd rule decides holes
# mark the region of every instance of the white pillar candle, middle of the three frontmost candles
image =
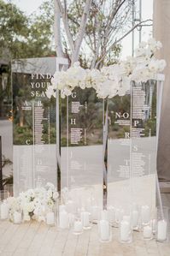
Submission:
[[122,243],[132,242],[131,223],[126,220],[122,220],[120,222],[120,242]]

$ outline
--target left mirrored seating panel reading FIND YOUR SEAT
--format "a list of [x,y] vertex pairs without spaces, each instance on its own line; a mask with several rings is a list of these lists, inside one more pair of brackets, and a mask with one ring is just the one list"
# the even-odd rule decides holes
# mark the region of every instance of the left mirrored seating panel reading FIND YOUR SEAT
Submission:
[[15,194],[56,184],[56,99],[45,94],[55,71],[56,57],[12,63]]

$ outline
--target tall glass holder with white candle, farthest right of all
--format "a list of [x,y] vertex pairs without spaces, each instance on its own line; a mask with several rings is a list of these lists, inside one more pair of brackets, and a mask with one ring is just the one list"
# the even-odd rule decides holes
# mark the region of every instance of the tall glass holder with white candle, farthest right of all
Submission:
[[156,241],[167,241],[168,207],[157,208],[156,211]]

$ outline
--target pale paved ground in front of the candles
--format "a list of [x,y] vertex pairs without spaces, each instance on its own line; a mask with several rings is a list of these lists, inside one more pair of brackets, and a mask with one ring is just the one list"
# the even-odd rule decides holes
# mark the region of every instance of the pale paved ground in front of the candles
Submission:
[[[170,194],[163,195],[164,205],[170,205]],[[100,243],[97,225],[82,235],[72,230],[47,227],[44,223],[15,225],[0,222],[0,256],[169,256],[170,243],[144,241],[142,234],[133,233],[131,244],[119,242],[118,229],[112,229],[113,241]]]

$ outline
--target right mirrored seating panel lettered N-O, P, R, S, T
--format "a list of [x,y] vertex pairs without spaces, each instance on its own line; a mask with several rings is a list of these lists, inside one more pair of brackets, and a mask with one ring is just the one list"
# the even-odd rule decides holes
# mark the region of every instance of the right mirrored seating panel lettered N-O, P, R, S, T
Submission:
[[108,206],[125,213],[133,204],[155,211],[158,83],[132,82],[126,95],[108,100]]

